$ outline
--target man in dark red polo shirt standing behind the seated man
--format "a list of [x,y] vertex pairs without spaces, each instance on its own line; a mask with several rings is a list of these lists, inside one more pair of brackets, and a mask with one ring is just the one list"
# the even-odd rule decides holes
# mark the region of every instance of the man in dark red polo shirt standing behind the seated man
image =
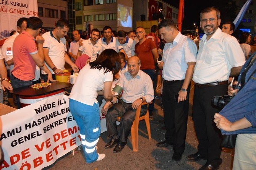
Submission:
[[[157,48],[151,39],[146,39],[146,32],[143,27],[136,28],[136,36],[139,42],[135,45],[135,56],[141,60],[141,70],[147,73],[152,82],[154,81],[155,65],[157,64]],[[154,100],[149,105],[149,117],[153,117]]]

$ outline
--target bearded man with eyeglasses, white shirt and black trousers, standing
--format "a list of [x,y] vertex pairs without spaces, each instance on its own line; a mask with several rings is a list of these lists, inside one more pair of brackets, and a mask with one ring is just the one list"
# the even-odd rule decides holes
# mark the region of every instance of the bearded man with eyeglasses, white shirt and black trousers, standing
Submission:
[[217,170],[222,164],[221,133],[214,126],[214,114],[219,108],[211,105],[214,96],[227,94],[229,76],[237,76],[245,63],[245,56],[235,37],[221,31],[220,11],[208,7],[200,13],[204,36],[199,43],[194,68],[193,120],[198,138],[198,152],[187,161],[206,159],[199,170]]

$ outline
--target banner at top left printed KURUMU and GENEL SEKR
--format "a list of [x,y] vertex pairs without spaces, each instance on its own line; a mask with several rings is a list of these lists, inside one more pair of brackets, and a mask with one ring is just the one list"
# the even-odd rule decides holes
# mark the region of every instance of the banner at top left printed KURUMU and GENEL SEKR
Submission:
[[37,0],[0,0],[0,41],[17,29],[19,18],[31,16],[38,17]]

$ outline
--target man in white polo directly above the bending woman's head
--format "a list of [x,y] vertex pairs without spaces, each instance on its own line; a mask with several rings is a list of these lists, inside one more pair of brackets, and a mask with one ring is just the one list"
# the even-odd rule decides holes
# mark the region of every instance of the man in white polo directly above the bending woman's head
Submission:
[[112,36],[112,28],[110,26],[105,26],[103,28],[104,37],[99,39],[99,43],[102,45],[102,51],[105,49],[113,49],[116,52],[122,52],[125,54],[125,58],[127,55],[125,50],[121,45],[118,45],[117,38]]

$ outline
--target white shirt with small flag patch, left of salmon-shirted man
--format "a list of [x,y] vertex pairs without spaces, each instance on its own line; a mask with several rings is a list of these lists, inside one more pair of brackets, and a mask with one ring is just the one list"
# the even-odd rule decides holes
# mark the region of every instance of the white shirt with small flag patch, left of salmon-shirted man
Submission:
[[[15,34],[13,34],[12,36],[8,37],[8,39],[5,40],[5,42],[3,43],[3,46],[1,47],[2,54],[6,62],[13,59],[13,42],[18,35],[19,35],[18,31],[16,31]],[[10,65],[10,72],[12,70],[13,70],[13,65]]]

